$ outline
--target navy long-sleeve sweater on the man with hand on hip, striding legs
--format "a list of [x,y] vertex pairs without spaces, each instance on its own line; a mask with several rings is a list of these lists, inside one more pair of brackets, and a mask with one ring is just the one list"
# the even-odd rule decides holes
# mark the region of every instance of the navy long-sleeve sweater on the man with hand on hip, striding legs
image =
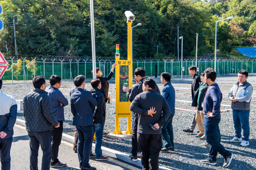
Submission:
[[203,101],[203,114],[207,117],[207,112],[212,112],[214,117],[209,117],[217,119],[221,117],[221,101],[222,93],[218,84],[212,84],[208,87],[206,96]]

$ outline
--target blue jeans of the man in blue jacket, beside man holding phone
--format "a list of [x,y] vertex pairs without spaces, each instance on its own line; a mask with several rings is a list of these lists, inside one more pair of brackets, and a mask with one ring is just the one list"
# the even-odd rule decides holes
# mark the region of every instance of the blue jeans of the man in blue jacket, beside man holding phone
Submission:
[[166,123],[162,127],[162,138],[163,138],[163,146],[165,148],[174,147],[173,143],[173,116],[174,114],[170,114]]

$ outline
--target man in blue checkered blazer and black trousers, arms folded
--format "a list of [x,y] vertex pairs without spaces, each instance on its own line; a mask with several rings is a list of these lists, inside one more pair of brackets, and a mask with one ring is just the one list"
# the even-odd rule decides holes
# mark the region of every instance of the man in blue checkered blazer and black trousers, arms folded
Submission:
[[61,77],[58,75],[50,76],[50,86],[45,90],[50,98],[53,118],[60,123],[60,127],[53,128],[52,136],[52,161],[50,167],[64,167],[67,164],[61,163],[58,159],[59,146],[63,132],[64,106],[68,105],[68,99],[59,90],[61,86]]

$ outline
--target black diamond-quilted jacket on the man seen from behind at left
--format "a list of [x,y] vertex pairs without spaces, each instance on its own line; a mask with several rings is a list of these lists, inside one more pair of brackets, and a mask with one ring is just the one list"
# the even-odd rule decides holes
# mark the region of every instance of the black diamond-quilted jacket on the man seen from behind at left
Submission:
[[23,99],[23,115],[27,131],[53,130],[58,126],[51,114],[50,98],[45,90],[35,88]]

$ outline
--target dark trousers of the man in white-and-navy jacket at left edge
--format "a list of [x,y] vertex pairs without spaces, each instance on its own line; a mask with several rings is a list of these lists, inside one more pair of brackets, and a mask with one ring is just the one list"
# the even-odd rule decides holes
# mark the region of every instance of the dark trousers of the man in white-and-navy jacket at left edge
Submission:
[[10,156],[11,146],[12,146],[12,137],[0,139],[1,170],[11,169],[11,156]]

